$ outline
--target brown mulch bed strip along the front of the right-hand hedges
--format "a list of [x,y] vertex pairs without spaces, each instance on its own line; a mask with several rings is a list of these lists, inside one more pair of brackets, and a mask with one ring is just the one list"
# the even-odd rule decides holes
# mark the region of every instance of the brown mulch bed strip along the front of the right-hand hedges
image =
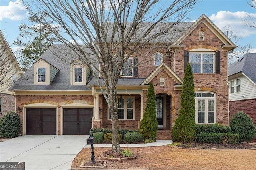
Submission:
[[209,144],[209,143],[180,143],[171,144],[181,148],[196,148],[196,149],[256,149],[255,144]]

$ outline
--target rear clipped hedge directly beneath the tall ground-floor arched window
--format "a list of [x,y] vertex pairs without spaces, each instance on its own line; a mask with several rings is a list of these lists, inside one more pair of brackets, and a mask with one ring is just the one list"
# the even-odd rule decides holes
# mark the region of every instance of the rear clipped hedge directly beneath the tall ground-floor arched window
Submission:
[[197,124],[196,134],[200,133],[231,133],[230,126],[225,126],[219,123],[215,124]]

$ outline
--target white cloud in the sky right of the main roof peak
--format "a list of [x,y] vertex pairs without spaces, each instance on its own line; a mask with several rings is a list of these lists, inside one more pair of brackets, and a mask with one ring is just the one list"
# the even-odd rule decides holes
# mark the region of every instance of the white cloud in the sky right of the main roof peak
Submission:
[[256,18],[256,13],[247,13],[244,11],[230,12],[219,11],[217,14],[212,14],[210,20],[220,29],[224,26],[231,26],[231,30],[237,32],[238,36],[248,37],[251,34],[256,34],[255,28],[246,26],[244,21],[249,16]]

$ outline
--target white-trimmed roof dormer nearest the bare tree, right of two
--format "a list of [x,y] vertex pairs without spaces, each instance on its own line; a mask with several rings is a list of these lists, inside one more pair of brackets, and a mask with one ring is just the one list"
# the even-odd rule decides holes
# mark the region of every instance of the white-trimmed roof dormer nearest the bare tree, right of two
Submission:
[[71,85],[86,85],[90,75],[90,69],[79,60],[70,64],[70,84]]

